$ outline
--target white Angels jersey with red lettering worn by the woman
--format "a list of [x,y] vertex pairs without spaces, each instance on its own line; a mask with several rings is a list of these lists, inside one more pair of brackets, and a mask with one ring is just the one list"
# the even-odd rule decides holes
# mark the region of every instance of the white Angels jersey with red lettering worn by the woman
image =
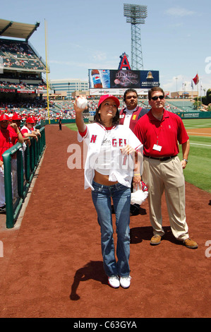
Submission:
[[[122,155],[120,148],[128,144],[140,152],[140,173],[142,174],[142,143],[140,143],[131,129],[122,125],[113,126],[111,130],[98,123],[87,124],[86,126],[87,129],[84,133],[80,134],[78,132],[78,141],[84,141],[88,145],[84,166],[84,188],[94,190],[92,179],[97,168],[100,172],[108,171],[109,181],[118,181],[123,186],[130,188],[134,169],[133,158],[131,155],[127,157]],[[104,158],[104,155],[106,158]],[[95,164],[97,164],[97,167]]]

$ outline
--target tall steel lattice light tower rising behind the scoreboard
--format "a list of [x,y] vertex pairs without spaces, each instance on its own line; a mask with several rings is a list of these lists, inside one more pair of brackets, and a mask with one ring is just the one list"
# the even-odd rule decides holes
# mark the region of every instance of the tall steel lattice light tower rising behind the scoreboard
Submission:
[[147,6],[123,4],[123,15],[127,17],[127,23],[131,23],[131,67],[133,70],[143,70],[140,24],[145,23]]

